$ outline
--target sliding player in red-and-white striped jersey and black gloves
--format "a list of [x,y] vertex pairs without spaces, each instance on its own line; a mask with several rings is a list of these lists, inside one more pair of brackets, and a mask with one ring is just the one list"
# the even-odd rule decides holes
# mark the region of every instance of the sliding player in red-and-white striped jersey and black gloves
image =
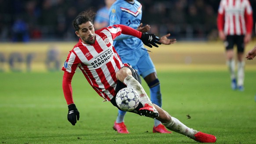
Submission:
[[75,33],[80,39],[69,51],[62,67],[64,71],[62,89],[68,104],[68,121],[75,126],[80,118],[80,113],[73,101],[71,86],[73,75],[79,68],[96,93],[115,107],[118,108],[115,99],[117,91],[124,87],[132,88],[139,94],[139,105],[131,112],[158,119],[169,130],[193,140],[205,143],[216,142],[215,136],[187,127],[156,104],[152,104],[139,83],[138,73],[122,63],[113,47],[113,40],[121,33],[138,37],[148,47],[158,47],[157,44],[161,44],[159,39],[154,34],[139,32],[125,25],[112,25],[95,31],[92,24],[94,15],[91,11],[84,11],[73,20]]

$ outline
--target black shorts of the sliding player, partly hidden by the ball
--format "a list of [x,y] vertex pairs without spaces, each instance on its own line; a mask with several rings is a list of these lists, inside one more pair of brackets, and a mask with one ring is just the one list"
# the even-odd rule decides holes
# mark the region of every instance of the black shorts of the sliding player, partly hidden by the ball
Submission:
[[[132,76],[141,84],[141,79],[140,79],[140,76],[139,76],[138,72],[137,72],[135,69],[130,68],[130,67],[128,67],[128,66],[124,66],[124,67],[129,68],[129,69],[132,71]],[[116,88],[115,88],[115,91],[118,92],[119,90],[121,90],[121,89],[124,88],[124,87],[127,87],[127,86],[126,86],[124,83],[122,83],[121,81],[117,80],[117,86],[116,86]],[[116,103],[116,96],[113,97],[113,98],[110,100],[110,102],[111,102],[115,107],[118,108],[117,103]],[[138,114],[139,108],[143,108],[143,105],[142,105],[141,103],[139,103],[138,107],[135,108],[135,110],[133,110],[133,111],[131,111],[131,112],[134,112],[134,113]],[[120,108],[118,108],[118,109],[121,110]]]

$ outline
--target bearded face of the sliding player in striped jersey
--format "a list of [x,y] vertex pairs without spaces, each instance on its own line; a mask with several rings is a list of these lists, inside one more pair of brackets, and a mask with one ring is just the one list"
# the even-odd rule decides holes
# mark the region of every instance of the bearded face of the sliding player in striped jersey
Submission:
[[79,25],[79,32],[76,32],[77,36],[80,36],[83,43],[93,44],[95,43],[95,31],[91,22],[86,22]]

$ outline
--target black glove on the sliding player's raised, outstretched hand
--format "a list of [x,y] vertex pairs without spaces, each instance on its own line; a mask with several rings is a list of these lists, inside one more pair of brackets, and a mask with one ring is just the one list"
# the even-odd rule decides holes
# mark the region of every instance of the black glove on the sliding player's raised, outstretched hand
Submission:
[[152,47],[152,45],[154,46],[154,47],[158,47],[157,45],[156,45],[156,43],[157,44],[161,44],[158,40],[160,40],[159,39],[159,37],[157,37],[155,34],[150,34],[150,33],[144,33],[144,32],[142,32],[142,36],[141,36],[141,38],[140,38],[140,40],[146,45],[146,46],[148,46],[148,47]]

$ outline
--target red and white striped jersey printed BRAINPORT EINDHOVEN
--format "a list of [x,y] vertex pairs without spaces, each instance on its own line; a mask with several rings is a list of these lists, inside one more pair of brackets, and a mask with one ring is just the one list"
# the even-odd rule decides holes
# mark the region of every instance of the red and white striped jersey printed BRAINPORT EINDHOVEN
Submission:
[[113,47],[113,40],[121,33],[141,36],[141,32],[125,25],[113,25],[95,31],[95,43],[85,44],[80,39],[69,51],[62,67],[65,71],[63,79],[70,80],[69,83],[62,82],[68,104],[73,103],[71,79],[77,68],[80,68],[93,89],[105,100],[110,101],[116,94],[114,90],[117,84],[116,72],[124,64]]

